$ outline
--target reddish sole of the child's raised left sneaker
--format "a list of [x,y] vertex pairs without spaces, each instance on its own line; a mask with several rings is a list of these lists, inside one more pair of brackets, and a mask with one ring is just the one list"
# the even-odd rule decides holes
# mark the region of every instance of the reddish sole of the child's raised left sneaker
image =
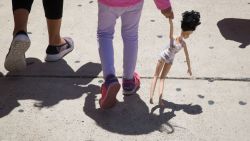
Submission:
[[116,95],[120,90],[121,85],[119,83],[110,84],[107,90],[107,96],[103,101],[100,101],[100,106],[103,109],[111,108],[116,103]]

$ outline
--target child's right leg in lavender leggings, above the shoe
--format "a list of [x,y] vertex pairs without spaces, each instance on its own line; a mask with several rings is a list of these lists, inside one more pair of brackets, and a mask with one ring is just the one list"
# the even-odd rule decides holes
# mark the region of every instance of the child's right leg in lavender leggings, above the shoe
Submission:
[[129,7],[122,15],[123,51],[123,77],[133,79],[137,52],[138,52],[138,26],[141,17],[143,2]]

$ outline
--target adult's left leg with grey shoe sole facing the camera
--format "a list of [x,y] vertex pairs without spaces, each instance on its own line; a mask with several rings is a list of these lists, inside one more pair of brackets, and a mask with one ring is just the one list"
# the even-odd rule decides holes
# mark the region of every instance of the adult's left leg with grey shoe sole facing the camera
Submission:
[[12,0],[13,40],[4,62],[5,68],[10,72],[22,71],[26,68],[25,52],[30,47],[27,23],[32,3],[33,0]]

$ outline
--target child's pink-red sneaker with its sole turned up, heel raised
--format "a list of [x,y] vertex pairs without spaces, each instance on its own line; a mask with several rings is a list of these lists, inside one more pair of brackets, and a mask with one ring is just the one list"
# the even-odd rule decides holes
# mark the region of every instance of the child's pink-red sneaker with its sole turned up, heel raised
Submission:
[[102,97],[99,100],[99,104],[102,109],[112,108],[115,105],[117,101],[116,95],[119,92],[120,87],[121,85],[114,75],[107,77],[105,83],[103,83],[101,87]]

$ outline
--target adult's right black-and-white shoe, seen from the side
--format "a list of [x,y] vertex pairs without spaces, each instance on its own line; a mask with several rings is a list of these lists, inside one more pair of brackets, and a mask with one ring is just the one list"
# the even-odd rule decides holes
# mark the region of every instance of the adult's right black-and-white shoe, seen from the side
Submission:
[[48,46],[46,50],[45,61],[54,62],[62,59],[65,55],[74,49],[74,42],[69,37],[63,38],[66,43],[61,46]]

